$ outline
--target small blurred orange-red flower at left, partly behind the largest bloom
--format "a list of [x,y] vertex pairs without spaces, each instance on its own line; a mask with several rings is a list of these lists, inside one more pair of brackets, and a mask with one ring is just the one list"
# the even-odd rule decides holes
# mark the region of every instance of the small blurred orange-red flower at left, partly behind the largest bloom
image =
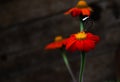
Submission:
[[54,49],[62,48],[64,41],[65,39],[63,39],[62,36],[57,36],[54,42],[45,46],[45,50],[54,50]]

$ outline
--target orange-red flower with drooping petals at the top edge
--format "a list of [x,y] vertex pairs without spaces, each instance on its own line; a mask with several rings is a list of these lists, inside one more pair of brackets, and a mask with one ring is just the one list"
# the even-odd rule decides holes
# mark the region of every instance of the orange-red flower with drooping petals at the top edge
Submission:
[[87,5],[85,0],[80,0],[74,8],[69,9],[65,12],[65,15],[71,14],[73,17],[76,16],[90,16],[92,9]]

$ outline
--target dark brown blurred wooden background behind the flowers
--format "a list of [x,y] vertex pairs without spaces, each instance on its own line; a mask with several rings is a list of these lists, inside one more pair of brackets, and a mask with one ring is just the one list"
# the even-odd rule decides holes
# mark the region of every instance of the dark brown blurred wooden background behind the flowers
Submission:
[[[87,0],[94,12],[84,22],[101,41],[87,53],[84,82],[120,78],[120,0]],[[0,0],[0,82],[72,82],[59,50],[45,51],[54,37],[79,31],[79,19],[64,16],[77,0]],[[94,22],[93,22],[94,21]],[[80,55],[69,53],[78,79]]]

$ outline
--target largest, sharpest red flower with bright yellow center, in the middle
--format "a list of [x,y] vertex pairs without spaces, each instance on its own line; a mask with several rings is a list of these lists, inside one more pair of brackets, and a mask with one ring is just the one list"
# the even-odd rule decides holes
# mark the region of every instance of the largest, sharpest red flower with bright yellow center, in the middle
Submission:
[[74,51],[85,51],[88,52],[93,49],[96,43],[99,41],[99,37],[91,33],[80,32],[73,34],[70,38],[64,42],[66,50]]

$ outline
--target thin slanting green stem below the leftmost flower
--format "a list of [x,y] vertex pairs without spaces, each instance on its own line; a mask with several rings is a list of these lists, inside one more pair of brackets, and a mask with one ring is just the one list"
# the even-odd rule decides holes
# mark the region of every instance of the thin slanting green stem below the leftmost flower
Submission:
[[67,69],[68,69],[68,72],[69,72],[70,76],[72,77],[73,82],[77,82],[76,79],[75,79],[75,76],[72,73],[72,70],[70,68],[70,65],[69,65],[69,62],[68,62],[68,59],[67,59],[67,56],[66,56],[65,52],[62,53],[62,56],[63,56],[64,63],[66,65]]

